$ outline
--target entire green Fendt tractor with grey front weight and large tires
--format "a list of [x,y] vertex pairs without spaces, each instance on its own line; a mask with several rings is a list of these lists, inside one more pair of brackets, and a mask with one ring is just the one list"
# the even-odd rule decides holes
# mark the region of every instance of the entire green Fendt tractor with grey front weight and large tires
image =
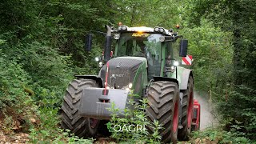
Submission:
[[[106,26],[106,45],[98,75],[76,75],[62,105],[62,127],[79,137],[94,137],[99,123],[111,118],[111,102],[124,110],[130,92],[135,102],[147,98],[150,122],[158,120],[162,142],[188,139],[200,126],[200,105],[194,100],[192,70],[181,66],[188,41],[174,30],[162,27]],[[116,40],[114,53],[112,39]],[[177,45],[178,43],[178,45]],[[92,34],[86,34],[91,50]],[[178,48],[175,48],[178,47]],[[122,117],[122,114],[121,114]],[[148,129],[150,133],[153,130]]]

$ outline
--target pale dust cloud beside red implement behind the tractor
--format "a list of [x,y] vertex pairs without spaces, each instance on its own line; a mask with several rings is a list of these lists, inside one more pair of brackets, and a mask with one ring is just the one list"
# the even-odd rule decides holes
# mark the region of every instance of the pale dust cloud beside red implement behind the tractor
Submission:
[[198,102],[201,105],[200,130],[216,126],[218,120],[214,117],[215,114],[212,113],[212,106],[210,105],[208,95],[194,91],[194,99],[198,99]]

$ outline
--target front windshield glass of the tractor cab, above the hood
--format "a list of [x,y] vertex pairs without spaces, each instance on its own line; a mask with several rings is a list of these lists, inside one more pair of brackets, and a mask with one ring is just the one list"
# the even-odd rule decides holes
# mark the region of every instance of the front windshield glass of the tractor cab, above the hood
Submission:
[[144,57],[148,63],[149,80],[160,75],[161,34],[123,33],[118,41],[116,56]]

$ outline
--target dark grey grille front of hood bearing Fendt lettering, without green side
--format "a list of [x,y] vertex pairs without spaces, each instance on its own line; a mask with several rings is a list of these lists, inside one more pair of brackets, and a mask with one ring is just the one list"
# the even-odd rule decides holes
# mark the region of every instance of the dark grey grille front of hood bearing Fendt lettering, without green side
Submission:
[[[122,89],[134,81],[141,60],[130,58],[113,58],[109,61],[108,86]],[[106,65],[102,67],[101,78],[106,80]],[[138,89],[138,88],[137,88]]]

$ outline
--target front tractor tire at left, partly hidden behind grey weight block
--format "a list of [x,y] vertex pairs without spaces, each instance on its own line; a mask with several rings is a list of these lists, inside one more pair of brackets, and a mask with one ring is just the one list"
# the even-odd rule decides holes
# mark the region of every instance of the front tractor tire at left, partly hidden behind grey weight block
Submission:
[[94,137],[97,133],[97,119],[84,118],[78,114],[82,90],[87,87],[99,87],[91,79],[74,79],[70,82],[62,105],[62,128],[69,129],[78,137]]

